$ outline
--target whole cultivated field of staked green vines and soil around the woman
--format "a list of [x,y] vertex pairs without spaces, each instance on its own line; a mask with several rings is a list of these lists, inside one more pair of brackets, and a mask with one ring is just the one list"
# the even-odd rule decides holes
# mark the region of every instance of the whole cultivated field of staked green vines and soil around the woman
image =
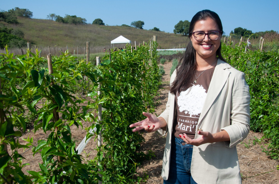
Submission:
[[[38,49],[14,55],[6,47],[0,56],[0,182],[162,183],[158,168],[165,138],[129,128],[144,118],[142,111],[161,113],[173,63],[169,61],[183,56],[156,52],[158,47],[153,42],[151,47],[141,44],[132,51],[88,56],[65,51],[47,59],[39,57]],[[268,167],[252,164],[249,171],[240,165],[242,179],[276,183],[279,53],[245,47],[222,43],[223,57],[245,73],[250,86],[251,133],[237,147],[239,160],[247,167],[254,162],[247,153],[253,158],[259,154],[245,150],[249,148],[263,151],[269,160],[264,162]],[[166,60],[158,65],[162,58]],[[78,154],[83,137],[96,141]],[[271,182],[262,178],[265,175]]]

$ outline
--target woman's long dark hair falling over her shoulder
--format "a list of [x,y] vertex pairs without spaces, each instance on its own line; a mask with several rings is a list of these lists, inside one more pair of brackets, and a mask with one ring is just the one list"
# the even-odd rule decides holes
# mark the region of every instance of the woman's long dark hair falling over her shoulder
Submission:
[[[211,18],[212,20],[214,20],[223,34],[222,22],[219,16],[217,15],[217,13],[210,10],[202,10],[197,12],[197,14],[193,16],[190,22],[189,38],[191,36],[191,33],[193,32],[195,23],[200,20],[206,20],[207,18]],[[225,61],[221,55],[221,44],[218,50],[216,51],[216,56],[218,56],[220,60]],[[172,94],[175,94],[177,91],[181,92],[188,89],[195,79],[196,69],[197,69],[196,50],[194,49],[191,41],[189,41],[186,47],[186,51],[176,67],[176,78],[174,79],[172,85],[170,86],[170,92]]]

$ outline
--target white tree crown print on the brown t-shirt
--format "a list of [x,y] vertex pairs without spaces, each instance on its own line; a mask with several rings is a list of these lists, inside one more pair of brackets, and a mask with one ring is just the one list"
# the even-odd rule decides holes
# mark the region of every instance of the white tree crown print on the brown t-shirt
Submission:
[[179,111],[185,111],[185,114],[190,114],[190,116],[199,115],[203,108],[206,94],[206,90],[200,85],[193,85],[186,91],[180,92],[180,96],[177,98]]

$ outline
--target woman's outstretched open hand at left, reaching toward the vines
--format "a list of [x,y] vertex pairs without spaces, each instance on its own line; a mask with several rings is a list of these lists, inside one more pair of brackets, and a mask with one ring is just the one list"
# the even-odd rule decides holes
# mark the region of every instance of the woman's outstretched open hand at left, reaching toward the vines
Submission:
[[133,132],[145,129],[147,132],[153,132],[158,130],[161,127],[166,127],[166,121],[163,118],[157,118],[157,116],[150,114],[148,112],[143,112],[143,115],[147,118],[143,121],[130,124],[130,128],[136,127],[133,129]]

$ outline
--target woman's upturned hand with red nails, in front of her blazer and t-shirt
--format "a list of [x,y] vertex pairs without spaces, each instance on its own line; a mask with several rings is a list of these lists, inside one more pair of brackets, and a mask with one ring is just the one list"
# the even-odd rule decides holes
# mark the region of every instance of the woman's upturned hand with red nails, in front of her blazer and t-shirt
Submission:
[[185,141],[187,144],[191,144],[194,146],[200,146],[205,143],[214,143],[216,142],[215,138],[210,132],[204,132],[204,131],[198,131],[199,135],[202,135],[201,137],[197,139],[190,139],[187,137],[186,134],[180,134],[179,136],[182,138],[182,140]]

